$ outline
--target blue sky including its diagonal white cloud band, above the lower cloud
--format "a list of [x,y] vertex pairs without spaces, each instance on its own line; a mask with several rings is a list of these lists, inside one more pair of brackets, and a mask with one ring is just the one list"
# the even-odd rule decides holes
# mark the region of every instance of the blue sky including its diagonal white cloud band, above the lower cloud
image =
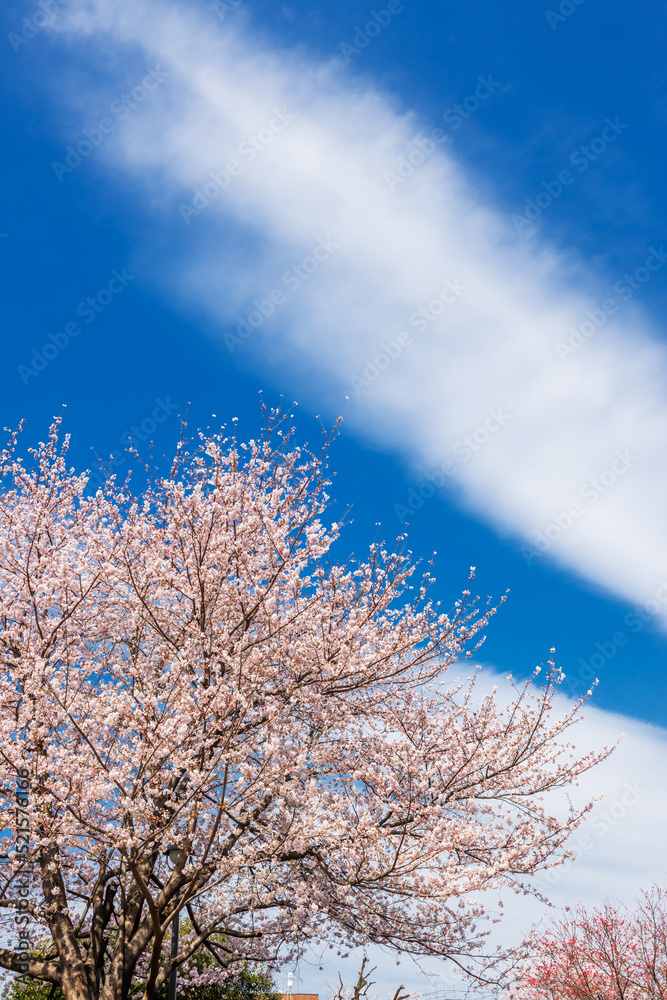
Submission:
[[349,548],[433,493],[408,530],[437,596],[470,565],[510,589],[484,661],[525,676],[553,645],[570,694],[595,673],[599,709],[664,726],[663,6],[45,2],[0,15],[3,424],[66,404],[77,463],[120,471],[123,435],[168,452],[186,407],[251,435],[284,394],[312,440],[349,396]]

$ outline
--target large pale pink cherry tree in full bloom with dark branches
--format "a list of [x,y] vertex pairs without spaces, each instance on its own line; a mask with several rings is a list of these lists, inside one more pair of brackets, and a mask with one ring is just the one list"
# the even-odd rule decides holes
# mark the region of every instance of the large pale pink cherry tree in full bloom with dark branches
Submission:
[[589,807],[542,796],[608,752],[568,744],[580,704],[552,717],[553,665],[509,704],[456,680],[492,610],[466,590],[441,611],[404,538],[335,562],[330,437],[300,448],[285,415],[247,444],[183,432],[167,472],[93,495],[59,421],[19,444],[0,456],[0,966],[65,1000],[137,981],[154,1000],[201,948],[221,975],[317,942],[479,951],[480,894],[558,863]]

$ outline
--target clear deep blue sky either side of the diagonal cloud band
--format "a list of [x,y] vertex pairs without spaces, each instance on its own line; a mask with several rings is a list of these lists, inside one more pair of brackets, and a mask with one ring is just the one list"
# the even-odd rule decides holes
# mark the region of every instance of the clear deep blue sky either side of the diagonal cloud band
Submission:
[[[217,27],[218,12],[210,5],[184,6],[201,11]],[[21,19],[38,9],[9,5],[3,35],[25,30]],[[286,58],[292,48],[322,59],[337,55],[341,45],[355,44],[355,34],[357,43],[363,42],[364,26],[374,20],[359,3],[316,8],[245,2],[220,12],[223,28],[243,18],[249,31]],[[429,128],[443,128],[449,150],[469,170],[475,188],[506,215],[525,210],[526,199],[541,190],[543,181],[552,182],[572,166],[571,155],[595,139],[606,118],[627,124],[587,170],[574,169],[575,182],[540,220],[544,235],[559,248],[575,248],[587,262],[621,277],[646,256],[644,248],[659,246],[666,237],[664,15],[653,3],[603,9],[596,0],[586,0],[565,20],[551,20],[553,29],[540,6],[527,11],[510,3],[501,11],[492,4],[456,3],[444,13],[440,5],[415,0],[394,13],[365,48],[343,51],[357,81],[386,90],[399,108],[414,109]],[[150,418],[157,398],[178,409],[189,403],[193,424],[206,422],[213,412],[222,419],[238,415],[251,433],[258,419],[257,391],[264,389],[270,399],[281,390],[300,399],[304,433],[316,433],[310,423],[312,401],[299,395],[298,377],[288,376],[281,384],[280,378],[267,378],[247,352],[230,354],[219,342],[220,324],[197,315],[191,302],[179,308],[141,273],[137,245],[143,244],[145,252],[150,238],[139,232],[145,216],[131,177],[95,154],[60,182],[55,176],[51,164],[62,161],[64,139],[78,137],[96,120],[63,102],[64,91],[80,91],[86,81],[104,86],[105,74],[91,65],[91,48],[64,44],[48,26],[25,44],[5,40],[3,422],[14,425],[27,417],[30,433],[39,434],[66,403],[74,453],[77,461],[88,463],[91,448],[105,457],[122,450],[123,432]],[[454,106],[474,95],[480,77],[486,81],[481,93],[492,92],[464,119]],[[137,115],[150,112],[148,100]],[[474,104],[470,100],[466,107]],[[174,231],[173,221],[152,220],[157,246],[150,246],[151,252],[168,255],[168,241],[201,235],[203,227],[195,232],[193,225]],[[244,244],[253,237],[230,230],[223,238]],[[82,323],[83,336],[24,384],[18,366],[31,362],[32,348],[39,350],[49,332],[76,320],[79,303],[105,288],[113,269],[129,261],[135,277],[122,294],[93,322]],[[655,319],[658,336],[664,333],[666,279],[667,269],[657,272],[636,296]],[[259,279],[256,291],[263,292]],[[250,287],[248,300],[252,292]],[[341,407],[344,394],[339,394]],[[325,411],[327,419],[335,402]],[[175,413],[151,435],[160,448],[173,442]],[[348,428],[333,461],[334,493],[354,507],[350,545],[362,549],[376,521],[392,538],[401,528],[394,506],[405,504],[410,487],[418,487],[422,477],[390,444],[380,447]],[[620,523],[618,530],[623,531]],[[636,619],[624,622],[631,602],[563,572],[549,553],[529,566],[519,539],[503,537],[456,496],[440,492],[430,498],[411,513],[409,532],[416,553],[438,551],[444,601],[453,599],[471,564],[477,567],[482,595],[498,597],[510,588],[509,602],[490,630],[486,658],[525,674],[553,644],[566,673],[578,675],[580,660],[599,653],[596,643],[609,650],[614,633],[624,631],[627,644],[618,646],[599,670],[595,701],[663,722],[665,640],[652,620],[642,622],[639,631],[634,631]],[[574,683],[583,686],[578,676]]]

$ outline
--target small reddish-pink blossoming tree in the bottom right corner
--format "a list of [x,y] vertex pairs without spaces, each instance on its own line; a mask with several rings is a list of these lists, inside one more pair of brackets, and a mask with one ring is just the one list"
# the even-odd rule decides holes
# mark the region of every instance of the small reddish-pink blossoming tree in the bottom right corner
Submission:
[[665,1000],[667,892],[642,894],[635,910],[578,906],[532,943],[515,1000]]

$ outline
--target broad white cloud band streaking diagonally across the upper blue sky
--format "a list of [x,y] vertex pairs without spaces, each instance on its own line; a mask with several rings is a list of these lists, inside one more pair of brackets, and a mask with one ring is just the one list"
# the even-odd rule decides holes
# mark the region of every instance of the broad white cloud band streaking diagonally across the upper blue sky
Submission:
[[[57,30],[77,35],[81,52],[113,53],[116,91],[136,82],[127,67],[139,65],[137,52],[169,71],[97,154],[139,177],[149,230],[151,218],[162,233],[170,220],[169,248],[156,256],[165,286],[221,331],[234,331],[256,309],[252,300],[268,312],[271,291],[284,293],[270,322],[251,317],[262,322],[239,351],[318,406],[337,410],[349,393],[347,418],[359,432],[422,469],[451,457],[465,435],[483,441],[489,408],[503,407],[502,429],[457,463],[461,502],[527,542],[543,533],[544,558],[617,595],[662,597],[665,350],[618,295],[616,314],[582,347],[565,359],[555,349],[618,276],[594,274],[539,236],[517,236],[447,145],[424,143],[433,123],[402,113],[335,61],[272,51],[240,11],[220,24],[212,9],[90,0],[75,3]],[[70,94],[83,124],[103,113],[107,96],[94,87]],[[252,135],[249,162],[242,144]],[[423,164],[400,183],[387,180],[401,162],[421,159],[420,145]],[[200,214],[186,225],[178,205],[232,160],[238,171],[209,205],[205,196],[195,202]],[[301,267],[319,238],[340,247],[290,288],[284,272]],[[465,289],[439,304],[448,280]],[[423,332],[409,323],[421,307],[429,316],[441,309]],[[352,377],[363,378],[401,330],[411,345],[355,391]]]

